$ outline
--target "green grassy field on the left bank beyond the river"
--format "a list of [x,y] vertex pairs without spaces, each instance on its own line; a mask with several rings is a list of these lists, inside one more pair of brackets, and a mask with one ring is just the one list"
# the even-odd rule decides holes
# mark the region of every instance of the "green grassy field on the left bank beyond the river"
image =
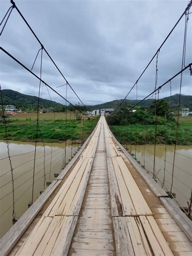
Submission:
[[[17,141],[36,140],[36,115],[21,113],[11,116],[6,122],[8,138]],[[80,115],[80,114],[78,114]],[[82,143],[91,134],[98,119],[74,119],[74,113],[42,113],[39,116],[37,141],[59,142],[65,140]],[[0,123],[0,139],[6,139],[4,123]]]

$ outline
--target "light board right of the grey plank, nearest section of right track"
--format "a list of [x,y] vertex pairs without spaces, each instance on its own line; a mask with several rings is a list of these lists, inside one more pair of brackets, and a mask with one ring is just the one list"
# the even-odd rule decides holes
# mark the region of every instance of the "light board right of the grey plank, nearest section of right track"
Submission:
[[152,256],[153,254],[151,252],[149,244],[147,240],[145,240],[145,242],[143,241],[134,217],[125,217],[125,218],[126,218],[134,254],[142,255],[142,256],[144,255]]

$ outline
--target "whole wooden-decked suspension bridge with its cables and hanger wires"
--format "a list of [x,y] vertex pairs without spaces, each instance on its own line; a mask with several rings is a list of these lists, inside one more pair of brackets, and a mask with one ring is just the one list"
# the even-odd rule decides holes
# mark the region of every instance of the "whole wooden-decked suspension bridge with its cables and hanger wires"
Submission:
[[[95,117],[87,109],[86,105],[83,104],[78,94],[75,92],[73,87],[64,77],[62,71],[57,66],[51,55],[43,46],[43,43],[36,36],[34,30],[30,27],[28,21],[25,19],[23,14],[19,11],[17,5],[11,0],[11,6],[3,17],[0,25],[4,24],[0,35],[6,31],[6,24],[13,10],[17,11],[19,17],[26,24],[30,32],[32,32],[34,38],[40,44],[41,48],[37,51],[36,58],[33,62],[32,68],[24,65],[19,59],[15,58],[9,51],[0,47],[0,50],[4,55],[9,57],[25,71],[28,71],[39,82],[38,87],[38,102],[37,102],[37,117],[36,117],[36,140],[34,151],[34,166],[32,169],[26,171],[28,173],[32,170],[33,176],[27,181],[31,181],[31,185],[27,188],[32,188],[31,202],[29,203],[29,209],[23,213],[20,218],[16,216],[15,203],[22,199],[24,191],[17,198],[15,191],[17,188],[22,187],[24,183],[20,184],[15,188],[15,180],[24,175],[25,173],[15,177],[15,169],[21,166],[14,166],[13,157],[10,152],[8,126],[6,118],[4,117],[4,103],[1,92],[2,102],[2,121],[4,123],[4,130],[6,135],[6,157],[9,161],[11,169],[5,171],[0,177],[11,174],[11,180],[1,188],[11,183],[11,192],[2,196],[1,199],[6,200],[6,196],[13,196],[13,204],[9,206],[0,217],[5,215],[13,207],[13,223],[14,225],[0,240],[0,255],[87,255],[87,256],[98,256],[98,255],[113,255],[113,256],[137,256],[137,255],[174,255],[174,256],[187,256],[192,254],[192,224],[190,218],[192,199],[186,198],[190,201],[188,203],[188,212],[184,209],[174,196],[172,189],[176,189],[181,195],[183,191],[179,188],[174,187],[175,168],[179,168],[175,165],[175,158],[177,156],[176,145],[178,142],[178,130],[179,130],[179,109],[181,101],[181,85],[182,75],[184,72],[190,70],[192,75],[192,63],[186,64],[186,38],[187,38],[187,27],[188,19],[190,17],[190,7],[192,1],[189,2],[186,9],[183,11],[168,36],[164,39],[163,43],[157,49],[154,56],[151,58],[137,81],[131,87],[126,94],[125,98],[119,103],[115,109],[114,114],[119,111],[119,108],[123,106],[123,102],[130,92],[136,88],[136,95],[138,95],[138,83],[149,65],[153,60],[156,60],[156,73],[155,73],[155,88],[154,90],[145,96],[142,100],[138,100],[137,103],[128,109],[132,111],[137,108],[138,105],[149,96],[154,96],[156,104],[154,105],[155,113],[155,141],[154,141],[154,160],[153,160],[153,172],[149,175],[149,171],[140,164],[136,157],[136,145],[135,154],[132,151],[128,151],[127,147],[123,147],[111,132],[106,118],[105,113],[102,113],[98,123],[94,130],[90,132],[88,138],[85,137],[86,122],[90,119],[96,120]],[[160,58],[160,50],[164,46],[164,43],[168,40],[173,30],[177,27],[177,24],[181,19],[185,17],[184,26],[184,40],[183,40],[183,51],[182,51],[182,63],[181,70],[175,75],[165,81],[163,84],[158,86],[158,58]],[[58,71],[59,75],[64,80],[64,85],[59,85],[55,89],[50,86],[47,82],[42,79],[42,65],[43,65],[43,54],[51,61],[53,66]],[[40,56],[40,76],[38,76],[33,70],[38,58]],[[156,58],[156,59],[155,59]],[[159,94],[162,87],[170,85],[171,94],[171,81],[177,76],[181,76],[180,88],[179,88],[179,102],[178,102],[178,113],[175,135],[175,149],[173,151],[173,163],[172,173],[166,170],[166,164],[169,163],[166,160],[165,147],[164,155],[164,177],[162,186],[157,183],[158,173],[156,169],[156,138],[157,138],[157,127],[158,127],[158,109]],[[47,189],[45,189],[46,175],[45,172],[45,143],[41,134],[41,128],[39,126],[39,111],[40,111],[40,99],[43,91],[43,85],[45,85],[47,92],[53,92],[62,100],[65,101],[65,135],[67,132],[67,105],[73,107],[74,118],[73,126],[75,124],[75,114],[78,112],[83,117],[81,121],[82,134],[79,136],[79,142],[81,147],[78,147],[76,151],[76,145],[71,145],[71,159],[67,163],[66,159],[66,140],[65,146],[62,149],[62,171],[58,171],[55,174],[55,179],[51,180],[51,160],[53,156],[53,140],[51,145],[51,157],[50,171],[49,171],[49,182],[47,182]],[[65,96],[59,93],[56,88],[66,86]],[[172,85],[173,86],[173,85]],[[69,90],[75,97],[81,102],[83,110],[79,106],[72,104],[69,99]],[[51,96],[49,94],[50,100]],[[51,100],[52,102],[52,100]],[[126,107],[126,104],[125,104]],[[53,107],[55,115],[55,110]],[[70,121],[71,112],[70,112]],[[55,131],[55,118],[54,118],[54,131]],[[73,129],[73,134],[74,134]],[[132,131],[126,130],[125,136]],[[39,159],[36,156],[38,134],[42,139],[44,155],[41,164],[44,165],[44,174],[40,178],[35,180],[36,168],[38,166],[36,160]],[[137,141],[138,132],[135,133]],[[73,136],[72,136],[73,137]],[[81,137],[81,139],[80,139]],[[86,140],[85,140],[86,139]],[[81,140],[81,142],[80,142]],[[132,142],[130,141],[130,144]],[[146,141],[145,141],[146,144]],[[127,146],[127,145],[126,145]],[[75,147],[75,154],[73,155],[73,148]],[[31,153],[31,152],[29,152]],[[28,154],[28,153],[23,153]],[[19,155],[15,155],[19,156]],[[183,157],[186,157],[182,155]],[[41,158],[41,157],[40,157]],[[59,159],[56,158],[56,161]],[[145,154],[144,154],[145,158]],[[190,157],[188,157],[190,158]],[[48,160],[49,160],[48,159]],[[190,158],[191,159],[191,158]],[[2,158],[1,160],[4,160]],[[25,162],[26,163],[26,162]],[[170,163],[169,163],[170,164]],[[190,175],[187,171],[179,169]],[[165,185],[166,174],[171,174],[171,183],[167,189]],[[44,181],[44,191],[41,191],[41,195],[35,200],[34,199],[34,183],[39,179]],[[178,179],[178,178],[177,178]],[[160,181],[158,179],[158,181]],[[161,183],[161,181],[160,181]],[[182,182],[183,183],[183,182]],[[189,186],[183,183],[186,188]],[[164,190],[163,190],[164,188]],[[190,189],[190,188],[189,188]],[[165,192],[167,191],[167,192]],[[185,195],[183,195],[185,197]],[[175,203],[176,202],[176,203]],[[180,206],[180,208],[179,208]],[[182,211],[181,211],[182,209]]]

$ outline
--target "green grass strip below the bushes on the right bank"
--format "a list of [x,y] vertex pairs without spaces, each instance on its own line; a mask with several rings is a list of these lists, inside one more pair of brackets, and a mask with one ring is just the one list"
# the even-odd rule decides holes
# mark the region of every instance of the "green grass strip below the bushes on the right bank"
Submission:
[[[111,131],[123,144],[154,144],[155,126],[134,124],[110,126]],[[176,123],[157,126],[156,143],[175,144]],[[179,117],[178,145],[192,145],[192,117]]]

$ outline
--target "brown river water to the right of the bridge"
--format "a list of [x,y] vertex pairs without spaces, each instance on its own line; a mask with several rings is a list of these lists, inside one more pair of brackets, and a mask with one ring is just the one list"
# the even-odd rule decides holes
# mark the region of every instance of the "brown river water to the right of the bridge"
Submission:
[[[126,145],[124,147],[126,148]],[[127,149],[128,151],[131,150],[132,154],[135,155],[135,145],[127,145]],[[156,181],[161,187],[162,183],[164,183],[163,189],[165,191],[170,191],[171,188],[174,149],[175,145],[166,146],[165,162],[165,145],[156,145]],[[176,194],[175,199],[178,203],[182,207],[187,207],[187,201],[190,201],[192,188],[192,146],[177,145],[175,152],[172,192]],[[136,158],[149,171],[149,175],[153,177],[154,145],[137,145]]]

